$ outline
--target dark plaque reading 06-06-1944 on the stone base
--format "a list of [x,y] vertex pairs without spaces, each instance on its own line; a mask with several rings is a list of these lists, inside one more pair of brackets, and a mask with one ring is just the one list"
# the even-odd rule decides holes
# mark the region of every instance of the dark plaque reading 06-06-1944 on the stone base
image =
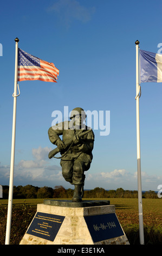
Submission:
[[93,242],[99,242],[124,235],[116,214],[85,216]]

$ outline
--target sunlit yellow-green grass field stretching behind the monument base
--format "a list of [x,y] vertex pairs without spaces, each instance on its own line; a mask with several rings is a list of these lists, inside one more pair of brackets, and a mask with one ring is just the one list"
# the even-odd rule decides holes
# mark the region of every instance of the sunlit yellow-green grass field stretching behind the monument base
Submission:
[[[37,204],[43,203],[42,198],[37,199],[13,199],[13,205],[19,207],[23,204],[36,209]],[[59,200],[59,199],[58,199]],[[68,200],[67,198],[65,200]],[[84,200],[87,200],[86,198]],[[88,200],[105,200],[105,198],[88,198]],[[137,198],[107,198],[110,204],[115,205],[115,212],[120,222],[124,225],[138,224],[138,199]],[[8,205],[7,199],[0,200],[0,207]],[[142,199],[144,225],[162,227],[162,200]]]

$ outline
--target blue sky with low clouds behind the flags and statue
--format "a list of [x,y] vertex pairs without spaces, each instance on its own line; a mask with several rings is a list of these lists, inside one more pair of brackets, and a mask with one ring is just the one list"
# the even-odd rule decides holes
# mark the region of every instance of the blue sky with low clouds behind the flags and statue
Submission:
[[[135,44],[157,53],[161,1],[53,0],[1,3],[0,184],[9,185],[15,38],[18,46],[60,70],[57,83],[19,82],[14,185],[62,185],[60,160],[48,159],[53,111],[110,111],[110,133],[94,130],[85,188],[137,190]],[[161,51],[162,53],[162,51]],[[2,55],[2,54],[1,54]],[[161,83],[142,83],[142,190],[157,190],[161,174]]]

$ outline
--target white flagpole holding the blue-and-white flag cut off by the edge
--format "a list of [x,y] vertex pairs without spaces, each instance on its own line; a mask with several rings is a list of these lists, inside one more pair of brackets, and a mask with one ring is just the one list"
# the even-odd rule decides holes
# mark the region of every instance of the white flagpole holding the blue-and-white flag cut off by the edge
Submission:
[[142,189],[141,189],[141,156],[140,156],[140,122],[139,122],[139,41],[135,42],[136,47],[136,114],[137,114],[137,172],[138,172],[138,210],[139,210],[139,236],[140,244],[144,245],[144,224],[142,213]]

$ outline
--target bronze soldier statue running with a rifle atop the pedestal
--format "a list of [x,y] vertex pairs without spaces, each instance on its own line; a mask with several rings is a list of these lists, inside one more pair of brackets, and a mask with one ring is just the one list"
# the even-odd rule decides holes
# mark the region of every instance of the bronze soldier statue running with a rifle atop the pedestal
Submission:
[[85,125],[86,113],[82,108],[74,108],[70,119],[49,128],[50,142],[57,146],[49,153],[49,158],[55,157],[56,151],[60,151],[63,178],[75,186],[72,200],[81,202],[84,172],[90,168],[93,159],[94,133]]

